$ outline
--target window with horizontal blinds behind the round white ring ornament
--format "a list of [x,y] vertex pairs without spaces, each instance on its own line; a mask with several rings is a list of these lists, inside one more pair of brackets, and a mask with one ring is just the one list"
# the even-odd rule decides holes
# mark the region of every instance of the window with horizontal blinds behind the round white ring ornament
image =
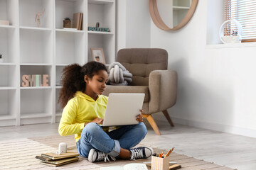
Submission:
[[[224,20],[238,20],[242,25],[242,42],[256,42],[256,1],[255,0],[224,0]],[[235,23],[225,26],[224,35],[238,32]]]

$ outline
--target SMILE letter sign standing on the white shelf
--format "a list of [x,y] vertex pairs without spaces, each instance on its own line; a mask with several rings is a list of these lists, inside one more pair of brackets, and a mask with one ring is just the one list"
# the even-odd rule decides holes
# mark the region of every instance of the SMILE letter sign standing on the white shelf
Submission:
[[40,74],[33,74],[33,75],[26,75],[24,74],[21,77],[21,86],[49,86],[49,75],[43,74],[43,84],[42,84],[42,75]]

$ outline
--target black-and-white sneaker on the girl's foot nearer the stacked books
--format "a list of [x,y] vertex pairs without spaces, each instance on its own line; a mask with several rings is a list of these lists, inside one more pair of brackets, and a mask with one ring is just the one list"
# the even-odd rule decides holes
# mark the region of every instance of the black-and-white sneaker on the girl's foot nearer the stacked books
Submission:
[[104,160],[104,162],[109,161],[112,159],[115,161],[114,157],[111,157],[109,154],[106,154],[105,152],[98,151],[96,149],[90,149],[90,152],[88,154],[88,161],[89,162],[101,162]]

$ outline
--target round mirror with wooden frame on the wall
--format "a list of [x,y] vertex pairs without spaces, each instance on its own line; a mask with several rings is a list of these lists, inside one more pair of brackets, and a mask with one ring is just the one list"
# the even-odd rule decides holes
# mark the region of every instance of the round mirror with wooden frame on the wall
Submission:
[[[197,4],[198,0],[149,0],[149,13],[154,24],[161,30],[178,30],[190,21]],[[166,7],[167,12],[164,10]],[[159,14],[159,10],[163,11]]]

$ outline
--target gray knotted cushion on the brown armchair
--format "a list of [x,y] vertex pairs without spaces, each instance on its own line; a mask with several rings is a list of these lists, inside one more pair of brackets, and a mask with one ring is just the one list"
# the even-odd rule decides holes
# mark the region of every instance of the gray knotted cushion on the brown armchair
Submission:
[[119,62],[113,62],[109,66],[109,83],[115,86],[125,86],[132,82],[132,74]]

